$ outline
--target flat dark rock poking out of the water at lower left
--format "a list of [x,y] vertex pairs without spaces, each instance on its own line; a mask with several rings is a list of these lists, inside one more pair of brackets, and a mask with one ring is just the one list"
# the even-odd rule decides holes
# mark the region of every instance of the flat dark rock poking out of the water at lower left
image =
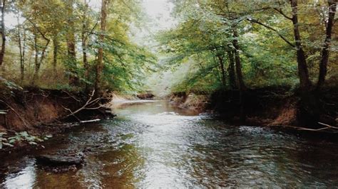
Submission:
[[83,157],[41,155],[36,156],[36,161],[46,166],[81,166],[83,164]]

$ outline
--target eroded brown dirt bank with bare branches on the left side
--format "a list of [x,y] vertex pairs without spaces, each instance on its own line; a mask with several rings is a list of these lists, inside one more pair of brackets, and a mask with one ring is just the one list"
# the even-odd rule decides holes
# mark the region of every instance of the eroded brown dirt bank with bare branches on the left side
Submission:
[[[9,137],[26,131],[29,136],[2,146],[1,151],[15,151],[26,146],[31,139],[34,144],[44,136],[61,133],[82,121],[110,116],[101,107],[106,99],[94,98],[93,94],[68,92],[66,90],[41,90],[38,88],[3,88],[0,94],[0,133],[4,144]],[[18,136],[19,137],[19,136]],[[26,137],[26,138],[25,138]],[[35,147],[35,145],[30,145]]]

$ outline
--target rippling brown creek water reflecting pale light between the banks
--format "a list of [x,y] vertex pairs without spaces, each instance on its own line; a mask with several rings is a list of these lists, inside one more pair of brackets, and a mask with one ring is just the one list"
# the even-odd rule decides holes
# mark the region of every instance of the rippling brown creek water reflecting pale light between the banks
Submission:
[[230,126],[164,101],[116,109],[36,153],[86,153],[80,170],[51,173],[24,156],[1,162],[0,188],[338,186],[338,144],[262,127]]

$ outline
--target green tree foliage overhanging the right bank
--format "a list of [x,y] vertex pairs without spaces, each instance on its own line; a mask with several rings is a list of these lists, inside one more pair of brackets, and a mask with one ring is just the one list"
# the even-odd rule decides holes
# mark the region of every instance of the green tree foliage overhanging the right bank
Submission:
[[[183,0],[173,1],[173,4],[174,15],[179,23],[157,36],[160,43],[158,48],[165,56],[162,59],[165,63],[164,72],[168,68],[180,70],[187,63],[191,65],[183,79],[173,82],[173,86],[168,85],[173,92],[211,92],[230,87],[228,83],[222,85],[222,72],[217,65],[218,58],[223,58],[228,78],[230,63],[227,56],[229,50],[234,50],[234,39],[239,41],[242,73],[247,87],[298,85],[296,50],[280,38],[283,36],[295,43],[292,22],[279,12],[292,16],[288,2]],[[309,52],[307,62],[312,80],[318,75],[320,50],[325,35],[320,18],[327,15],[327,10],[327,4],[322,1],[299,2],[299,27],[302,43]],[[309,12],[315,13],[309,15]],[[250,19],[256,19],[270,28],[251,23]],[[238,37],[233,35],[235,30]],[[332,42],[334,51],[334,40]],[[337,60],[337,55],[332,54],[330,60]],[[337,70],[334,64],[329,67],[332,71]],[[334,75],[334,72],[331,74]]]

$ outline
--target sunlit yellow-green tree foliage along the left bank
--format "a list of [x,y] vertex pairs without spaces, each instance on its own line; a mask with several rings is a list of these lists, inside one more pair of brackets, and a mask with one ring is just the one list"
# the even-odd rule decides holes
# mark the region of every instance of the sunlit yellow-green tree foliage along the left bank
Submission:
[[[8,80],[23,86],[34,83],[37,87],[49,89],[83,90],[93,87],[100,47],[104,50],[101,78],[106,90],[139,89],[143,86],[143,79],[153,70],[155,56],[130,38],[130,26],[141,26],[145,18],[140,1],[110,1],[105,33],[101,33],[100,29],[100,11],[88,6],[85,1],[29,0],[9,5],[24,22],[11,28],[8,35],[10,42],[7,49],[12,54],[7,50],[6,56],[9,56],[0,71]],[[69,31],[75,36],[76,60],[67,51]],[[106,38],[103,43],[98,40],[101,34]],[[86,46],[83,46],[83,40]],[[23,81],[20,80],[19,42],[24,45],[21,50],[26,55]],[[42,58],[44,48],[46,52]],[[88,65],[83,62],[83,53],[86,53]],[[39,68],[37,63],[41,63]],[[38,72],[38,77],[34,81],[35,72]],[[70,78],[74,77],[78,83],[71,86]]]

